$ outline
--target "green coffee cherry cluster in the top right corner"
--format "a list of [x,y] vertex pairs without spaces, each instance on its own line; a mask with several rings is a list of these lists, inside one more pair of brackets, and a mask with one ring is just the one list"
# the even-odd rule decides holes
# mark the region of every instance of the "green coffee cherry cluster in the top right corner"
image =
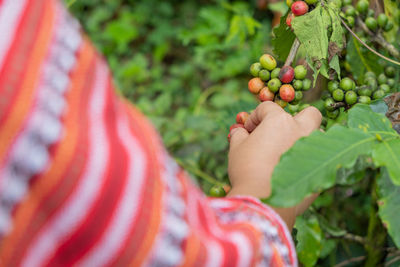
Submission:
[[369,8],[368,0],[359,0],[355,8],[352,5],[352,0],[343,0],[342,4],[340,16],[346,19],[350,27],[356,25],[357,17],[364,21],[365,25],[372,32],[376,32],[379,29],[387,32],[394,27],[393,22],[389,21],[384,13],[375,16],[375,11]]

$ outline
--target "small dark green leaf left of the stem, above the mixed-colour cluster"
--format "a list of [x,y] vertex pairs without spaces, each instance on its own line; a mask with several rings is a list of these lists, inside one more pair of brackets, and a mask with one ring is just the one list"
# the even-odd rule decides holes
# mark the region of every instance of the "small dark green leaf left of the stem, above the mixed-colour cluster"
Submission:
[[273,38],[271,40],[272,47],[274,48],[274,55],[278,60],[285,61],[289,55],[290,48],[296,38],[296,35],[286,25],[286,15],[281,17],[281,22],[278,27],[273,30]]

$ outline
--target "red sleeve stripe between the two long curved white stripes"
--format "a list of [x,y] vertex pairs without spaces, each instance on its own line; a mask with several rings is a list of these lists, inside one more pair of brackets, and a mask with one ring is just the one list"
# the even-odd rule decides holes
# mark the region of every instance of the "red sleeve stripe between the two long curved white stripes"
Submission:
[[128,177],[127,151],[120,143],[117,134],[117,107],[115,106],[115,96],[111,90],[110,81],[107,87],[107,102],[104,116],[108,137],[107,142],[109,142],[110,146],[110,159],[107,162],[105,183],[97,195],[95,205],[87,211],[85,220],[70,235],[67,242],[60,244],[47,266],[54,266],[57,262],[62,262],[64,265],[69,266],[83,257],[96,242],[101,240],[113,214],[116,212],[117,204],[121,201],[122,192]]

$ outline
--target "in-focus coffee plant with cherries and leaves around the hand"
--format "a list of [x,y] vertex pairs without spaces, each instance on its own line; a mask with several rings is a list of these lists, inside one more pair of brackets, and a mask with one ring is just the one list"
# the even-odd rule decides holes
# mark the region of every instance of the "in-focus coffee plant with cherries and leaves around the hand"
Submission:
[[[325,131],[302,138],[281,157],[271,196],[262,201],[289,207],[321,194],[295,226],[304,266],[336,262],[341,250],[354,246],[342,240],[358,252],[338,266],[399,266],[399,3],[376,1],[375,9],[367,0],[286,3],[290,9],[272,40],[284,64],[262,55],[250,66],[248,89],[296,114],[306,106],[303,91],[312,87],[308,67],[313,85],[323,81],[311,91],[319,95]],[[395,116],[391,121],[385,114]],[[236,122],[232,127],[243,127],[243,119]],[[351,208],[342,209],[346,205]],[[347,216],[362,221],[349,225]]]

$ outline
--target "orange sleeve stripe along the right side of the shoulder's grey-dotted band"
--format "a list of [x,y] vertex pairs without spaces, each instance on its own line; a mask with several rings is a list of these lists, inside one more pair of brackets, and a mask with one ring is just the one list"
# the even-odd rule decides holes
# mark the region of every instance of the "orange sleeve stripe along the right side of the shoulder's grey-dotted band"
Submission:
[[[85,42],[82,45],[80,55],[81,56],[77,62],[78,68],[72,74],[71,85],[69,88],[70,93],[67,95],[67,102],[70,107],[79,106],[79,103],[74,102],[78,102],[81,99],[81,95],[84,90],[87,89],[84,86],[86,79],[85,77],[82,77],[82,74],[87,73],[89,70],[91,65],[90,63],[95,55],[94,49],[87,42]],[[14,230],[10,236],[4,240],[2,247],[0,247],[0,255],[3,254],[5,258],[11,256],[11,252],[14,249],[18,249],[15,246],[24,236],[32,218],[37,215],[35,214],[35,211],[37,210],[39,204],[63,177],[63,174],[69,167],[71,158],[74,157],[76,146],[79,145],[77,143],[79,136],[79,125],[76,122],[79,121],[81,112],[78,108],[70,108],[68,112],[69,113],[66,116],[64,124],[65,136],[58,144],[57,152],[54,155],[53,163],[50,169],[44,173],[36,183],[33,184],[30,194],[16,210],[13,228]]]

